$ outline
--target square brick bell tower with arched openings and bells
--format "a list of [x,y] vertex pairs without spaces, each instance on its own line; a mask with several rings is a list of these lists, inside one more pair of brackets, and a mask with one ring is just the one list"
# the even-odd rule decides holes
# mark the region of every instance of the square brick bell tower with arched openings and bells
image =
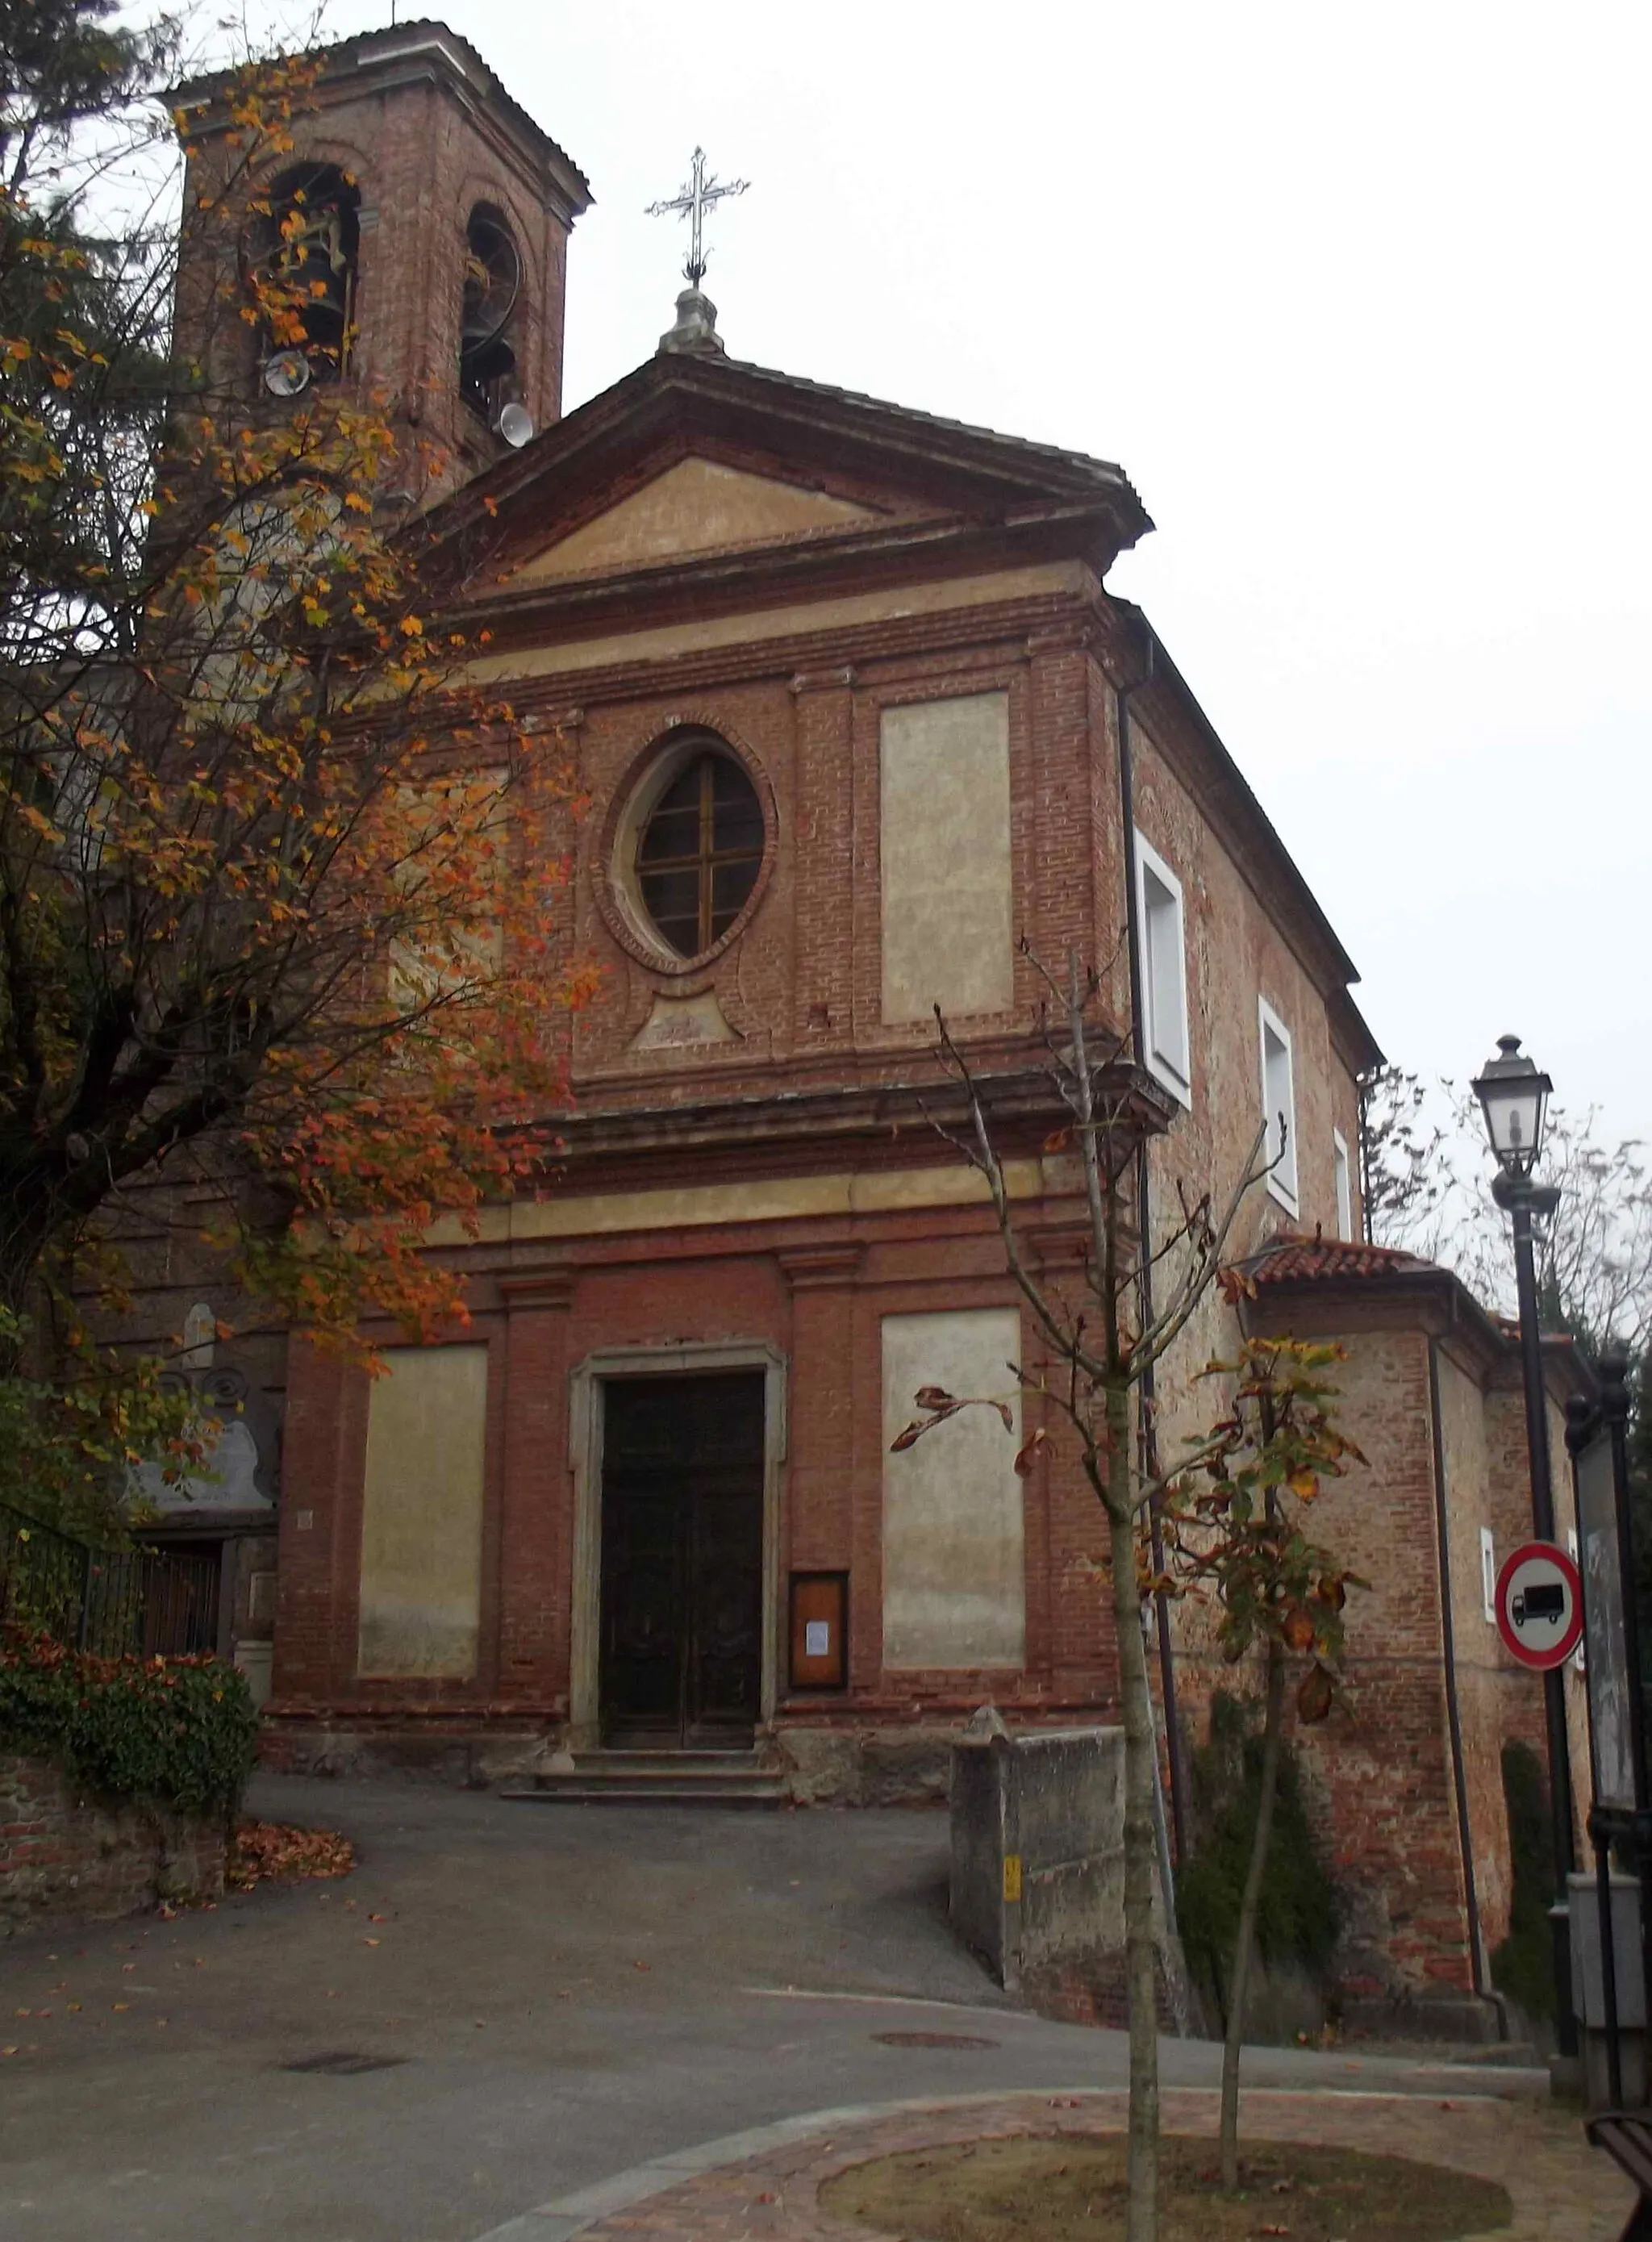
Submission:
[[[567,238],[590,186],[442,22],[368,31],[314,61],[294,146],[256,182],[269,209],[233,244],[294,285],[303,343],[226,332],[208,276],[188,269],[179,341],[258,410],[312,383],[388,397],[408,460],[437,462],[417,478],[430,504],[560,417]],[[222,83],[179,87],[175,108],[191,184],[199,168],[224,177],[238,141]]]

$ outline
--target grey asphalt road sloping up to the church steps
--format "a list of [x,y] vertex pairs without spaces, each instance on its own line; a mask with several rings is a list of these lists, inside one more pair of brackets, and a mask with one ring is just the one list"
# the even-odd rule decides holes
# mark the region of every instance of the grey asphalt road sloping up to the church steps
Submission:
[[[1121,2036],[1015,2013],[957,1951],[935,1814],[533,1807],[298,1778],[262,1778],[251,1807],[345,1829],[359,1872],[0,1946],[0,2045],[18,2047],[0,2065],[7,2242],[473,2242],[800,2112],[1125,2074]],[[926,2029],[995,2045],[876,2038]],[[388,2067],[291,2069],[316,2056]],[[1215,2069],[1217,2049],[1166,2045],[1168,2083]],[[1529,2092],[1289,2049],[1246,2076]]]

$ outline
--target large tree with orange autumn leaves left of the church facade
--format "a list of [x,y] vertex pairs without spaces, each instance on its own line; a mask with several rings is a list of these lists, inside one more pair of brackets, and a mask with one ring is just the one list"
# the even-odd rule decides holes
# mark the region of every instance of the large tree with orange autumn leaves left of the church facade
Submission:
[[159,1361],[90,1336],[134,1195],[213,1186],[188,1220],[253,1316],[428,1336],[464,1309],[421,1240],[536,1173],[583,984],[542,843],[572,778],[421,596],[430,462],[359,381],[271,410],[244,377],[307,332],[264,182],[314,65],[222,81],[179,226],[99,231],[173,61],[110,13],[40,0],[0,72],[0,1365],[52,1309],[119,1464],[188,1437],[134,1403]]

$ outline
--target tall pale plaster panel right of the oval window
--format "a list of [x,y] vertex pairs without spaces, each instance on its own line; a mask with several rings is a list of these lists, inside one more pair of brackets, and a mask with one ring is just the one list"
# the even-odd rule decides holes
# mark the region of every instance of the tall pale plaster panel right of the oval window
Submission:
[[879,773],[883,1018],[1009,1011],[1009,695],[885,708]]

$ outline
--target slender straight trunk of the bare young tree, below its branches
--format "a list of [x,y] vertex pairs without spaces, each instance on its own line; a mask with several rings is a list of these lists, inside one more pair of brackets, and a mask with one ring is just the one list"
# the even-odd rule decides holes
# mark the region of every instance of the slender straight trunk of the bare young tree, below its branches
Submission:
[[1130,2007],[1130,2211],[1125,2242],[1159,2238],[1159,1993],[1152,1933],[1152,1789],[1159,1755],[1148,1697],[1148,1648],[1136,1596],[1136,1525],[1130,1486],[1130,1392],[1107,1392],[1107,1538],[1119,1695],[1125,1715],[1125,1995]]

